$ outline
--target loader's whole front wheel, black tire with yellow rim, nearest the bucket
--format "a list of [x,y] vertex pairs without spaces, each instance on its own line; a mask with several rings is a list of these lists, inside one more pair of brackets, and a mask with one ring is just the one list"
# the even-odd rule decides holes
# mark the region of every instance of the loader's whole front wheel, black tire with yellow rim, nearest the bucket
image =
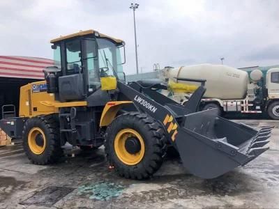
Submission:
[[163,163],[166,149],[163,127],[146,114],[122,114],[107,127],[105,153],[119,176],[149,178]]

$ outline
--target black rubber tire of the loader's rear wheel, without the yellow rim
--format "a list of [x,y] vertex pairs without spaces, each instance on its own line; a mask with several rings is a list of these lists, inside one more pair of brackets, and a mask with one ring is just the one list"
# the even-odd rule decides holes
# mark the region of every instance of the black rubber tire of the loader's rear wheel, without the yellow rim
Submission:
[[[29,132],[34,127],[39,128],[45,134],[45,148],[40,154],[33,153],[29,146]],[[29,118],[24,124],[22,139],[24,151],[33,164],[54,163],[63,155],[59,141],[59,125],[53,115]]]

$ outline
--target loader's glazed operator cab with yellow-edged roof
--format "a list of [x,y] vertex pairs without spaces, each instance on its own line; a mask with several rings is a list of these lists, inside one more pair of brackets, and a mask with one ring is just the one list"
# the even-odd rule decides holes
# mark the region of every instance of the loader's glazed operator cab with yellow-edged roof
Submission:
[[125,78],[122,66],[125,63],[125,42],[122,40],[88,30],[50,42],[55,66],[45,70],[45,79],[48,93],[55,93],[56,100],[88,100],[95,94],[95,100],[105,102],[107,95],[100,91],[100,78]]

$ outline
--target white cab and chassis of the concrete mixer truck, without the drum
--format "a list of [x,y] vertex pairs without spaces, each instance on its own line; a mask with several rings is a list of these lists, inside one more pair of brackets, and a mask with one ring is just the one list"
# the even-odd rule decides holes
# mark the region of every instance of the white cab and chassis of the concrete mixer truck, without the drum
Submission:
[[[257,71],[260,75],[253,81],[251,74]],[[250,82],[245,98],[221,100],[219,98],[202,99],[205,109],[217,108],[219,113],[239,112],[241,114],[268,114],[274,120],[279,120],[279,68],[267,70],[266,76],[260,70],[250,72]],[[260,74],[259,74],[260,73]],[[255,74],[254,74],[255,76]]]

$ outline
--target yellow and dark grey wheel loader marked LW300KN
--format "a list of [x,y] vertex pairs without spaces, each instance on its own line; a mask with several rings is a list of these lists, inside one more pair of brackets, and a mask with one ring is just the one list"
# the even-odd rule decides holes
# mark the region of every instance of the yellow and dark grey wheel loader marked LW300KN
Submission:
[[107,160],[125,178],[156,173],[167,148],[200,178],[216,178],[247,164],[268,148],[271,127],[254,130],[221,118],[217,109],[197,111],[205,80],[187,104],[158,93],[165,84],[125,82],[125,43],[88,30],[51,40],[54,66],[45,80],[20,88],[20,111],[3,108],[0,127],[22,138],[33,164],[57,162],[73,147],[105,146]]

